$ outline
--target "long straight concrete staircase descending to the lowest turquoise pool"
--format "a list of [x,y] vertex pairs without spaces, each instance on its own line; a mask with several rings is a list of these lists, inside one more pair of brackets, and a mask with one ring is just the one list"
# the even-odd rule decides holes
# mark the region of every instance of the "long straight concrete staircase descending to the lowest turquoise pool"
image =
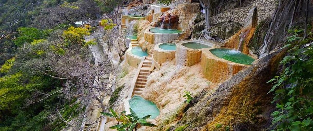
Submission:
[[153,53],[151,52],[149,53],[148,56],[145,57],[143,61],[141,61],[142,65],[141,67],[138,67],[139,74],[136,80],[133,95],[141,95],[142,91],[145,89],[146,82],[147,82],[148,76],[150,75],[150,70],[152,67],[152,57],[153,57]]

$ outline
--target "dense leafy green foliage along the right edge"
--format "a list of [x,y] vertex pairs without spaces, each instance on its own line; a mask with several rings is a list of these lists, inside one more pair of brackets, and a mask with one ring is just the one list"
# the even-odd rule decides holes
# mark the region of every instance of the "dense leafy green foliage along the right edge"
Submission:
[[272,103],[277,103],[272,123],[277,131],[313,130],[313,45],[304,45],[313,39],[299,41],[302,30],[292,32],[286,46],[293,47],[280,61],[284,69],[269,80],[274,84],[269,91],[275,94]]

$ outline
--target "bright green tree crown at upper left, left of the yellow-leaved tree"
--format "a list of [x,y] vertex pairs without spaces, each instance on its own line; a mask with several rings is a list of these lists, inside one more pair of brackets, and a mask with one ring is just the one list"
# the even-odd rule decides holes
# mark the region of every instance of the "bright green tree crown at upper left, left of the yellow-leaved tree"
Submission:
[[14,40],[16,46],[22,46],[25,42],[31,43],[34,40],[39,40],[47,37],[50,30],[39,30],[33,27],[19,27],[19,36]]

